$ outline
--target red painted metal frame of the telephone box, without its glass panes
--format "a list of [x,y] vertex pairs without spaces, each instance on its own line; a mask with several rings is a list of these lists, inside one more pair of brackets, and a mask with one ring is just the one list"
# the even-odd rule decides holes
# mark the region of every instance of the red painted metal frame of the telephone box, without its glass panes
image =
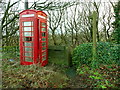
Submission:
[[[27,15],[27,14],[34,14],[34,17],[22,17],[22,15]],[[41,17],[38,17],[38,15],[45,17],[44,19]],[[31,32],[31,31],[23,31],[23,22],[28,22],[28,21],[32,21],[33,22],[33,36],[32,39],[33,41],[23,41],[23,38],[26,36],[23,36],[23,32]],[[31,65],[31,64],[37,64],[40,63],[41,66],[45,66],[48,63],[48,26],[47,26],[47,15],[42,12],[42,11],[37,11],[37,10],[24,10],[20,13],[20,64],[21,65]],[[46,29],[46,35],[44,38],[46,38],[46,41],[44,41],[46,43],[46,50],[44,50],[44,52],[46,52],[46,60],[43,61],[43,51],[42,51],[42,23],[46,24],[46,27],[44,27]],[[27,26],[25,26],[27,27]],[[27,36],[27,37],[31,37],[31,36]],[[32,60],[33,62],[27,62],[25,61],[25,53],[30,53],[30,51],[25,51],[25,47],[28,46],[24,46],[23,43],[24,42],[30,42],[33,43],[33,46],[31,48],[33,48],[33,52],[32,52]]]

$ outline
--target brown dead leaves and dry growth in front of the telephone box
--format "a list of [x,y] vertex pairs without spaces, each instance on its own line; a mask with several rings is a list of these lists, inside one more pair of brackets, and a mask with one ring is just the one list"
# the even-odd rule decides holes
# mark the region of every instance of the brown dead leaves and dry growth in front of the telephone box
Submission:
[[67,78],[64,74],[50,69],[50,66],[23,66],[16,62],[3,61],[2,68],[3,88],[55,88],[65,85]]

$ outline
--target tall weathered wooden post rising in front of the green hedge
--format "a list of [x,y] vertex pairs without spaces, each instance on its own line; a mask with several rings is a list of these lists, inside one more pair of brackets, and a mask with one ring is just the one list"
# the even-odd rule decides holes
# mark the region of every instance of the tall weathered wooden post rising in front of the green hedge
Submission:
[[97,19],[97,13],[94,11],[93,12],[93,62],[92,65],[95,66],[95,60],[96,60],[96,45],[97,45],[97,41],[96,41],[96,19]]

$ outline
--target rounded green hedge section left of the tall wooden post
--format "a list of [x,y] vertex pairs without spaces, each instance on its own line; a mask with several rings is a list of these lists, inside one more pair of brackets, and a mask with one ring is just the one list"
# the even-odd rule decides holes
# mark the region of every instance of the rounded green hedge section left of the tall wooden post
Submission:
[[86,43],[77,46],[73,51],[73,64],[76,66],[90,64],[92,59],[92,44]]

